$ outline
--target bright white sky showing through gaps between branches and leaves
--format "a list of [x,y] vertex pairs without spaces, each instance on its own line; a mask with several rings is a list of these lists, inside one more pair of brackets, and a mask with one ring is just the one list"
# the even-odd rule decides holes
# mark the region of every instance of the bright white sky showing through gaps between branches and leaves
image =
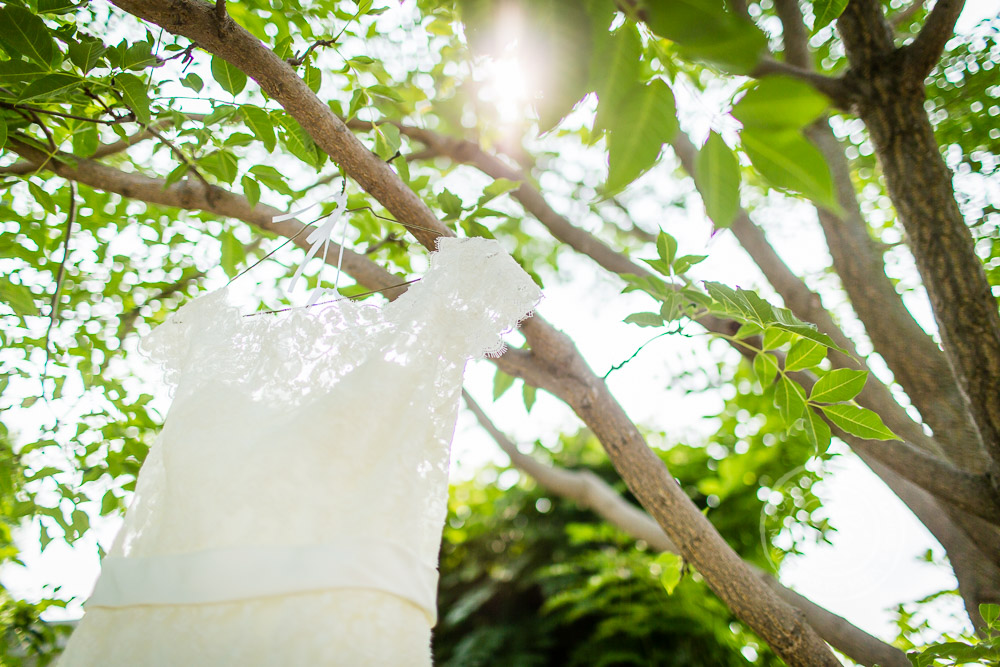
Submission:
[[[998,10],[1000,0],[970,2],[959,28],[967,30],[980,18],[996,14]],[[497,70],[496,76],[499,87],[510,90],[511,81],[517,80],[517,70],[511,71],[509,65],[504,65]],[[679,102],[686,104],[689,111],[693,105],[693,111],[697,112],[698,105],[704,102],[685,101],[682,97],[683,93],[679,93]],[[505,107],[501,110],[505,115],[509,111]],[[682,120],[686,129],[697,135],[707,132],[712,116],[690,113]],[[686,187],[671,184],[669,170],[663,168],[644,178],[658,179],[661,193],[664,187]],[[562,208],[574,217],[573,204],[564,201]],[[699,267],[700,276],[731,285],[751,286],[759,282],[759,272],[732,237],[728,234],[712,237],[697,207],[686,213],[671,209],[670,217],[666,218],[663,211],[652,204],[640,202],[634,211],[638,222],[646,229],[655,229],[666,219],[662,226],[679,239],[682,253],[707,252],[709,260]],[[827,264],[828,258],[813,216],[804,207],[787,204],[774,206],[761,215],[765,216],[770,237],[786,261],[807,279],[815,278],[814,274]],[[761,215],[757,218],[761,219]],[[565,270],[575,279],[571,285],[549,288],[540,312],[552,324],[570,333],[591,367],[603,374],[651,337],[648,329],[622,323],[628,314],[648,309],[648,302],[641,295],[620,295],[620,284],[594,271],[586,260],[569,259]],[[582,298],[581,295],[587,296]],[[926,305],[913,305],[921,321],[929,326]],[[719,409],[718,397],[688,396],[679,389],[670,389],[673,373],[690,363],[690,360],[683,361],[685,355],[699,355],[706,361],[714,359],[704,352],[705,347],[703,340],[660,339],[631,364],[611,375],[611,389],[637,423],[662,428],[677,439],[694,440],[707,436],[711,425],[704,416]],[[551,443],[561,431],[579,427],[569,409],[544,392],[539,392],[538,403],[530,415],[524,412],[519,391],[510,391],[496,405],[491,405],[494,369],[487,362],[471,365],[467,386],[496,423],[515,440],[530,442],[541,438]],[[16,419],[12,428],[27,429],[32,423],[27,414],[16,415]],[[453,458],[454,474],[463,477],[486,461],[504,462],[502,453],[467,413],[459,419]],[[891,610],[895,605],[954,587],[955,581],[946,567],[918,560],[928,549],[938,558],[943,551],[863,464],[848,454],[837,458],[830,468],[832,474],[822,484],[819,495],[831,522],[838,529],[832,536],[833,544],[807,546],[804,555],[786,561],[781,579],[865,630],[892,638],[895,630]],[[119,522],[94,517],[92,525],[92,533],[74,548],[56,541],[41,555],[38,554],[37,527],[23,530],[19,542],[24,549],[22,557],[27,568],[6,566],[0,573],[4,584],[13,594],[25,598],[37,599],[43,585],[54,584],[62,586],[58,592],[60,597],[85,599],[99,572],[96,540],[107,548]],[[935,623],[941,630],[964,627],[961,620],[952,616],[953,612],[954,608],[936,611]],[[80,607],[75,604],[70,606],[66,616],[77,617],[79,613]]]

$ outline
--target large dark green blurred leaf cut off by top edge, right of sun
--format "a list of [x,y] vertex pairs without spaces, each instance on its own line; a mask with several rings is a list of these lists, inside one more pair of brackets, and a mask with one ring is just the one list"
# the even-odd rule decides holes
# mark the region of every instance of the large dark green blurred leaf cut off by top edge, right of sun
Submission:
[[646,23],[661,37],[677,42],[681,54],[747,74],[767,49],[767,38],[749,21],[713,0],[647,0]]

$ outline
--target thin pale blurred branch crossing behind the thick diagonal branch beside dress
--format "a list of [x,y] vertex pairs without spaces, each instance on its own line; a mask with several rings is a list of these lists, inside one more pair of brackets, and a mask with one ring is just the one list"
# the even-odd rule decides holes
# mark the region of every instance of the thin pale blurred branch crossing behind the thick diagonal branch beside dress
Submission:
[[[644,540],[657,551],[678,553],[677,545],[648,514],[625,500],[607,482],[589,470],[572,471],[556,468],[522,454],[513,442],[496,427],[468,392],[462,392],[466,404],[480,425],[510,457],[511,464],[530,475],[549,492],[572,500],[594,511],[608,523],[620,528],[637,540]],[[799,609],[809,624],[834,648],[863,665],[909,667],[909,660],[899,649],[886,644],[852,625],[847,620],[786,588],[774,577],[754,569],[757,576],[785,602]]]

